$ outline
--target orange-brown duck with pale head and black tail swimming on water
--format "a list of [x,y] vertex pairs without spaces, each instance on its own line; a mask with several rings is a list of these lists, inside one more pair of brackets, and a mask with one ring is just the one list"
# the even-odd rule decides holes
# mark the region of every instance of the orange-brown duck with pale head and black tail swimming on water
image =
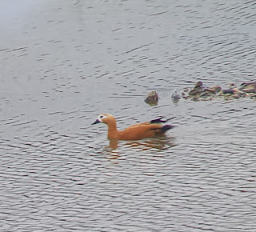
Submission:
[[108,126],[107,138],[114,140],[139,140],[143,138],[154,138],[162,136],[167,130],[174,128],[173,125],[166,125],[164,122],[167,120],[162,120],[161,118],[156,118],[150,122],[141,122],[133,126],[129,126],[125,130],[117,129],[117,122],[112,114],[99,114],[95,122],[92,123],[105,123]]

